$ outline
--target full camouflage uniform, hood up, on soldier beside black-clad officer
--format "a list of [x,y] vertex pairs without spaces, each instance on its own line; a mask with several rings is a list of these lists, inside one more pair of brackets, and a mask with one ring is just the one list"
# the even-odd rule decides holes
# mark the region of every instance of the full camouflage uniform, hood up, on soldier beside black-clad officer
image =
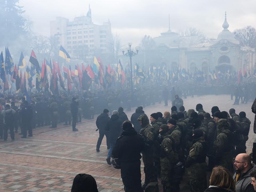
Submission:
[[142,160],[144,163],[144,173],[145,173],[145,183],[147,185],[150,182],[157,181],[157,177],[154,173],[154,163],[153,163],[153,143],[154,143],[154,131],[153,127],[149,124],[149,119],[147,115],[141,115],[138,121],[142,122],[141,130],[139,134],[142,135],[145,141],[145,150],[142,152]]

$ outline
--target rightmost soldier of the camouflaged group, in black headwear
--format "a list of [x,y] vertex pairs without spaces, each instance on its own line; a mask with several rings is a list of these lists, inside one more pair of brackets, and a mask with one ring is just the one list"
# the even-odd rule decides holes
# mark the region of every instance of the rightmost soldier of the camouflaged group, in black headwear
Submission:
[[248,135],[250,131],[251,121],[246,117],[246,113],[241,111],[239,113],[240,117],[240,127],[241,127],[241,134],[243,134],[243,141],[236,147],[237,153],[246,153],[246,141],[248,140]]

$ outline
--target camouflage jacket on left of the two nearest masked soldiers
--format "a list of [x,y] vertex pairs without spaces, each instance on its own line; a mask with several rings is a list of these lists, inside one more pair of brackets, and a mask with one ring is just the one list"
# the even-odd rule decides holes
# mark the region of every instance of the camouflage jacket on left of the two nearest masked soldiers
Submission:
[[176,163],[178,161],[178,154],[175,150],[175,143],[173,143],[174,139],[171,139],[171,135],[168,132],[162,135],[162,138],[160,160]]

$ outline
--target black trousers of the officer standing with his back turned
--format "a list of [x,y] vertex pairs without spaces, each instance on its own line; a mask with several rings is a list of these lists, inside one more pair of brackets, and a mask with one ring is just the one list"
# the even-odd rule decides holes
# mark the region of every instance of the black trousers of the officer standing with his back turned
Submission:
[[141,188],[141,161],[121,163],[121,177],[125,192],[143,192]]

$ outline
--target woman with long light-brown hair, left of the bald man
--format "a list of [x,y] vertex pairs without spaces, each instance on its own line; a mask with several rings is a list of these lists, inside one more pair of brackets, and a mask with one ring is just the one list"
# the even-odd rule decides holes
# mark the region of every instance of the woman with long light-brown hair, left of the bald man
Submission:
[[231,173],[224,167],[214,167],[210,186],[205,192],[235,192],[235,182]]

